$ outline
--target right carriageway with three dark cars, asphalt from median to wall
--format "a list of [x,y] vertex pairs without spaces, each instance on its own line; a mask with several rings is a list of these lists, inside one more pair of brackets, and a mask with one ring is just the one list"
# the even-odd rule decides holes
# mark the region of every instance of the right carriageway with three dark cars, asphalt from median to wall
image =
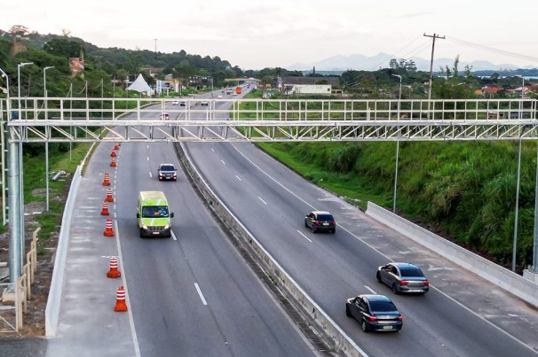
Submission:
[[[191,143],[186,151],[226,206],[368,355],[535,355],[538,314],[509,293],[387,229],[248,143]],[[336,235],[305,229],[305,214],[328,210]],[[376,282],[388,260],[423,267],[424,296],[394,296]],[[391,297],[404,316],[395,334],[365,334],[344,314],[359,293]]]

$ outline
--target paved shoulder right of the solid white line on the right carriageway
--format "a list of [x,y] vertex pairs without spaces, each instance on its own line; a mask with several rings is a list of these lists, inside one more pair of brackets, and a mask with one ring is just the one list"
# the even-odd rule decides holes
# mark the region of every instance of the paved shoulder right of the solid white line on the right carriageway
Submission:
[[[414,262],[423,268],[432,286],[468,307],[473,314],[479,314],[480,317],[538,350],[538,341],[534,338],[538,333],[538,314],[535,307],[528,306],[525,301],[509,291],[500,289],[475,274],[470,274],[468,270],[439,256],[437,252],[431,252],[399,232],[388,229],[327,191],[314,186],[313,190],[317,190],[317,196],[312,194],[312,190],[305,192],[305,187],[308,189],[311,186],[310,182],[305,182],[281,164],[265,163],[273,159],[263,151],[252,149],[253,146],[248,143],[232,144],[225,146],[218,153],[223,158],[225,153],[240,158],[238,167],[245,173],[254,171],[245,167],[245,163],[251,162],[258,171],[263,170],[277,186],[282,187],[282,190],[289,190],[290,195],[297,195],[299,200],[314,198],[310,202],[313,202],[316,208],[327,209],[334,213],[338,226],[349,229],[374,249],[384,252],[387,261]],[[233,150],[236,152],[232,155]]]

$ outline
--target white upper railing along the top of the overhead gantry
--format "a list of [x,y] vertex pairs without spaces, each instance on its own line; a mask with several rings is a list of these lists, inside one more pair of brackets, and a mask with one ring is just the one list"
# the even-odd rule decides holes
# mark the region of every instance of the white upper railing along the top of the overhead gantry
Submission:
[[[0,111],[21,120],[535,120],[534,99],[179,99],[12,97]],[[9,103],[8,103],[9,102]],[[176,104],[175,104],[176,103]],[[229,119],[228,119],[229,114]]]

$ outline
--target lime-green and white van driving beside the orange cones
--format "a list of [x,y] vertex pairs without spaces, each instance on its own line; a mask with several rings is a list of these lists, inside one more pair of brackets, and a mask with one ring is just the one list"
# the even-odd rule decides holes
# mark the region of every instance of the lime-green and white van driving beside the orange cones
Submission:
[[140,191],[137,208],[140,237],[170,237],[173,217],[162,191]]

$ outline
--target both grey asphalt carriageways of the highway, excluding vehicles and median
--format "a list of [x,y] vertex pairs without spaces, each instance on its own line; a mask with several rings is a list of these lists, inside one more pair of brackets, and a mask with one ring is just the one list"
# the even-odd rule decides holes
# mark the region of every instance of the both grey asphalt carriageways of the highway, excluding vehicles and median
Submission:
[[[139,355],[320,355],[248,268],[185,174],[178,171],[178,182],[157,180],[160,163],[179,167],[173,145],[124,143],[117,158],[115,220]],[[369,356],[536,355],[535,307],[374,221],[253,144],[181,147],[265,250]],[[175,213],[173,237],[138,237],[139,190],[166,193]],[[305,228],[313,209],[334,213],[335,235]],[[376,268],[388,260],[422,267],[431,291],[393,295],[376,282]],[[346,317],[345,299],[374,292],[399,307],[400,332],[366,334]]]

